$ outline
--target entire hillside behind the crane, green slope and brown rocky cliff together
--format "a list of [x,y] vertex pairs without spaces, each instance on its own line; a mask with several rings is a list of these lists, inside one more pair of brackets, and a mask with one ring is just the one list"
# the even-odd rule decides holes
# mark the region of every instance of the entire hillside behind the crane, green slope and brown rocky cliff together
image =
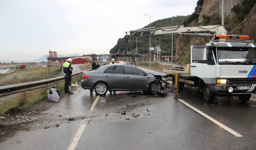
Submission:
[[[224,1],[224,26],[228,30],[228,34],[249,35],[251,40],[256,41],[256,0],[225,0]],[[191,26],[207,26],[221,24],[221,8],[222,0],[198,0],[195,4],[195,11],[188,16],[173,17],[173,25],[180,23]],[[151,23],[152,26],[169,26],[172,18],[165,18]],[[149,24],[145,27],[149,27]],[[143,27],[143,28],[145,28]],[[151,45],[159,46],[162,50],[161,55],[171,55],[172,35],[152,35]],[[110,53],[118,53],[124,38],[117,41]],[[128,53],[132,49],[132,53],[136,52],[136,38],[128,41]],[[190,45],[205,45],[211,38],[197,37],[191,35],[173,34],[173,55],[176,56],[175,61],[178,64],[185,65],[190,63]],[[154,42],[155,41],[155,42]],[[137,38],[138,53],[149,53],[149,37]],[[151,47],[153,47],[151,46]],[[139,58],[140,59],[140,58]]]

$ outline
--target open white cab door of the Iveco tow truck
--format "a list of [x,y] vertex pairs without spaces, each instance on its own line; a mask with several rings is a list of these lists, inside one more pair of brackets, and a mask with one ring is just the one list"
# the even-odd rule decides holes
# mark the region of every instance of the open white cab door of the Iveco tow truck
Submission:
[[207,83],[215,81],[215,59],[211,47],[191,46],[191,76]]

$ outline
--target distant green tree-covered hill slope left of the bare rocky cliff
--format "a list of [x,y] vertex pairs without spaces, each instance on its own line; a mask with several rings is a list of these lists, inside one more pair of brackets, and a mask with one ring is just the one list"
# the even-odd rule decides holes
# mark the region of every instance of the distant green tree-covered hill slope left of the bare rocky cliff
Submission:
[[[179,25],[182,21],[186,20],[189,16],[176,16],[173,17],[173,24]],[[172,18],[165,18],[160,19],[157,21],[154,21],[151,23],[152,26],[169,26],[172,25]],[[145,27],[149,27],[148,24]],[[173,34],[173,53],[175,53],[176,48],[176,39],[178,37],[178,34]],[[117,45],[115,45],[109,53],[118,53],[118,50],[121,48],[124,38],[120,38],[117,41]],[[132,51],[132,53],[136,53],[136,38],[128,39],[128,53]],[[151,36],[151,47],[159,46],[159,40],[160,40],[160,48],[162,50],[162,55],[171,55],[171,49],[172,49],[172,35],[161,35],[159,38],[159,35],[152,35]],[[138,47],[138,54],[145,54],[149,53],[149,37],[138,37],[137,38],[137,47]],[[142,60],[142,58],[139,58]]]

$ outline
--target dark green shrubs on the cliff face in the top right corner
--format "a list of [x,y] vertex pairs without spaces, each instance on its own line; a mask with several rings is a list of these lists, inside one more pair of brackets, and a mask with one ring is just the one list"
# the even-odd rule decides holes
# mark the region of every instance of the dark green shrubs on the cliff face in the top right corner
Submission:
[[234,5],[231,11],[237,14],[237,17],[234,18],[234,22],[241,22],[245,19],[246,15],[251,11],[253,8],[256,0],[243,0],[241,3]]

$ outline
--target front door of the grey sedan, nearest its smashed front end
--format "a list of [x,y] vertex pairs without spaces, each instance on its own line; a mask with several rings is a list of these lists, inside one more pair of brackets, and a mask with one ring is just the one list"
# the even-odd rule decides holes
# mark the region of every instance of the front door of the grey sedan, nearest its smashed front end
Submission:
[[133,68],[124,67],[125,70],[125,89],[126,90],[146,90],[147,76],[144,76],[143,71]]

